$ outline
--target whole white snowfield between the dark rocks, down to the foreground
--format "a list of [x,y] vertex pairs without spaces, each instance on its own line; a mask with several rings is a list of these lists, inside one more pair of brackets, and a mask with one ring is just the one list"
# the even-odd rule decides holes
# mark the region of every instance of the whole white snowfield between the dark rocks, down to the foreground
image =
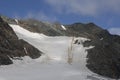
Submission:
[[13,65],[1,66],[0,80],[111,80],[98,76],[86,68],[85,50],[88,48],[82,44],[72,44],[73,62],[67,63],[72,37],[48,37],[29,32],[18,25],[10,26],[20,39],[24,39],[45,54],[35,60],[26,56],[22,61],[13,60]]

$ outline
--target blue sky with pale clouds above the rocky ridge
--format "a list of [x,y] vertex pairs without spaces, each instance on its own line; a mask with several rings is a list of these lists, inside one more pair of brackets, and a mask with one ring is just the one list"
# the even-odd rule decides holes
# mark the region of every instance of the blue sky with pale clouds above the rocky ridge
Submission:
[[120,35],[120,0],[0,0],[0,14],[61,24],[93,22]]

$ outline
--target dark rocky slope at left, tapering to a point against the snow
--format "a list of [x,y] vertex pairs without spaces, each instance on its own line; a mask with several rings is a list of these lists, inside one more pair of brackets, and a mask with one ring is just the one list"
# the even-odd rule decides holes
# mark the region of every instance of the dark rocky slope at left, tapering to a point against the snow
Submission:
[[10,58],[25,55],[35,59],[42,52],[23,40],[18,40],[11,27],[0,18],[0,65],[12,64]]

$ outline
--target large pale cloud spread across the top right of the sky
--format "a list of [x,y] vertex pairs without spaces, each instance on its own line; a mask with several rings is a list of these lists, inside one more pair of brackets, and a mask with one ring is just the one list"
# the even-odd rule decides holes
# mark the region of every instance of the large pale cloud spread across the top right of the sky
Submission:
[[120,13],[120,0],[45,0],[58,13],[98,15],[105,11]]

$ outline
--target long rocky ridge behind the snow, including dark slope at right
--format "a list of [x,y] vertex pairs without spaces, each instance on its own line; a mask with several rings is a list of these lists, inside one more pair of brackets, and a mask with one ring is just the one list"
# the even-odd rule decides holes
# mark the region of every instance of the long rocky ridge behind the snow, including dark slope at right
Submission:
[[[94,48],[87,50],[87,68],[102,76],[120,77],[120,36],[112,35],[94,23],[61,25],[34,19],[16,20],[6,17],[2,18],[9,24],[17,24],[31,32],[42,33],[47,36],[88,38],[90,40],[83,42],[84,47],[92,45]],[[16,36],[15,39],[17,39]],[[81,43],[76,39],[75,44],[79,45]]]

